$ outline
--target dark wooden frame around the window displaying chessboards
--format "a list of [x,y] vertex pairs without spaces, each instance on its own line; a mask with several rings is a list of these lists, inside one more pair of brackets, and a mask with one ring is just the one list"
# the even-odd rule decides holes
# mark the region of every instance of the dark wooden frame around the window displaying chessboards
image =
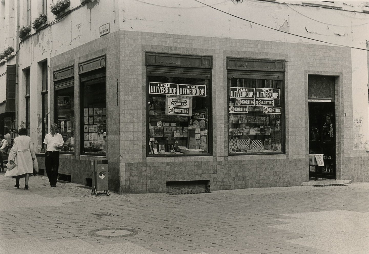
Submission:
[[[285,61],[273,59],[250,59],[227,57],[227,151],[229,156],[237,155],[279,155],[286,154],[286,94],[285,94]],[[281,121],[281,151],[280,152],[231,152],[230,151],[230,78],[260,79],[282,81],[280,87],[280,105],[282,106]]]

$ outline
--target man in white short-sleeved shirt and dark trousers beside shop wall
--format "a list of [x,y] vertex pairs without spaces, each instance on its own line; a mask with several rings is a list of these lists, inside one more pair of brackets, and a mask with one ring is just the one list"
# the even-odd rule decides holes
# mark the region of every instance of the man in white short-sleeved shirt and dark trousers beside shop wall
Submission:
[[58,124],[51,124],[51,133],[46,134],[44,139],[44,144],[46,145],[45,170],[51,187],[56,187],[59,170],[59,151],[64,144],[63,137],[58,133],[58,130]]

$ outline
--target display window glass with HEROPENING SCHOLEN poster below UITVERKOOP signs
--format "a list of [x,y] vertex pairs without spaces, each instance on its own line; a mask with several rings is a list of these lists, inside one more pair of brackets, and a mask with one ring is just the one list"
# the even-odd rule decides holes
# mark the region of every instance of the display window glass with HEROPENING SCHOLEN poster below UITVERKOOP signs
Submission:
[[210,154],[210,79],[148,76],[148,155]]

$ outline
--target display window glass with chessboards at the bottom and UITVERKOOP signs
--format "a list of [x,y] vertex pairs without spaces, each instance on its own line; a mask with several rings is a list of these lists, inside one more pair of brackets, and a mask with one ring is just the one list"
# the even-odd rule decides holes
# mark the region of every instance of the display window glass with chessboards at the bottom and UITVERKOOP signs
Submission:
[[283,80],[228,78],[229,154],[284,152]]

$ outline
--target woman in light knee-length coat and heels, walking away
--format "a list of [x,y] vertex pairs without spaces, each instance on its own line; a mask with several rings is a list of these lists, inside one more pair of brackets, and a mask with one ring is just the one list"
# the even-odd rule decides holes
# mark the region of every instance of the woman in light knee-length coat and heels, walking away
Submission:
[[10,164],[15,163],[17,165],[11,171],[7,171],[5,173],[5,176],[13,176],[17,179],[17,182],[14,185],[15,188],[19,188],[19,179],[24,175],[24,189],[28,189],[28,174],[33,173],[33,161],[35,158],[36,156],[33,151],[31,138],[27,135],[27,130],[25,128],[20,128],[18,130],[18,137],[14,138],[13,147],[11,148],[8,157]]

